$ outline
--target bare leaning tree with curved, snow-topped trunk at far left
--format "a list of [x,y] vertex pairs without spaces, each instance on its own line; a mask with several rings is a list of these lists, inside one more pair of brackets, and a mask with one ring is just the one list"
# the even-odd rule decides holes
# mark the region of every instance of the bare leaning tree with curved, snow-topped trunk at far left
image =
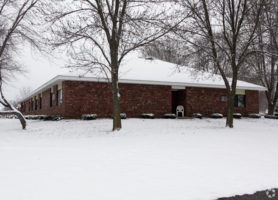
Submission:
[[[7,101],[3,94],[6,85],[17,81],[18,76],[29,73],[26,65],[21,61],[21,51],[29,45],[32,49],[38,48],[34,38],[38,36],[32,29],[32,9],[38,0],[1,0],[0,1],[0,102],[11,111],[9,114],[18,116],[23,129],[26,121],[18,110]],[[1,111],[0,114],[6,114]]]

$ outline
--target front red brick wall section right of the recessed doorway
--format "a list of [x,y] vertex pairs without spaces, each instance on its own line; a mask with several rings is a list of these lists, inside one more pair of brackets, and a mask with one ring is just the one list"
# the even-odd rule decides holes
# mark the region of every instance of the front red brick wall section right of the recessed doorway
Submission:
[[[221,101],[221,96],[227,96],[226,89],[208,87],[186,87],[187,95],[186,115],[200,113],[203,117],[210,117],[213,113],[227,116],[227,101]],[[179,92],[180,94],[180,92]],[[240,113],[242,117],[248,117],[250,113],[259,113],[259,92],[245,90],[245,108],[234,108],[234,113]]]

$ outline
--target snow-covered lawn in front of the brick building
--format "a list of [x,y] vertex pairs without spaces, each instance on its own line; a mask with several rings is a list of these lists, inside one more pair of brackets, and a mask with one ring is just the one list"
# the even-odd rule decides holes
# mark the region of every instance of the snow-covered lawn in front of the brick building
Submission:
[[278,120],[0,119],[0,199],[213,200],[278,187]]

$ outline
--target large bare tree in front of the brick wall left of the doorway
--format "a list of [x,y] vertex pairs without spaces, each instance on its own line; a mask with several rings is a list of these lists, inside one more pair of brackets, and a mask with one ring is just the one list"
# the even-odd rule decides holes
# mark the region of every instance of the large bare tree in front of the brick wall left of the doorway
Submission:
[[113,131],[121,129],[118,70],[124,56],[165,36],[182,17],[169,13],[170,4],[162,0],[57,0],[43,6],[52,11],[45,19],[52,25],[48,44],[66,49],[67,67],[107,78]]

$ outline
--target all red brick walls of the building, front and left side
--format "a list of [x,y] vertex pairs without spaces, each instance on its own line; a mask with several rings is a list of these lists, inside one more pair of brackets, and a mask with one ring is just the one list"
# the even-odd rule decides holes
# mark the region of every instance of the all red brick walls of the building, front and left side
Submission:
[[[80,119],[82,114],[97,114],[98,117],[111,117],[112,99],[108,83],[63,81],[62,105],[58,101],[57,85],[53,86],[56,99],[50,107],[51,89],[42,92],[42,108],[29,112],[29,100],[25,101],[24,115],[60,114],[64,119]],[[141,113],[153,113],[155,117],[163,117],[171,113],[171,86],[147,84],[119,84],[121,94],[121,113],[128,117],[140,117]],[[246,90],[246,108],[235,108],[234,113],[247,117],[249,113],[259,113],[259,92]],[[212,113],[226,116],[227,102],[221,101],[221,96],[227,96],[226,89],[186,87],[178,91],[179,105],[184,107],[184,116],[201,113],[210,117]],[[40,100],[40,94],[38,94]]]

